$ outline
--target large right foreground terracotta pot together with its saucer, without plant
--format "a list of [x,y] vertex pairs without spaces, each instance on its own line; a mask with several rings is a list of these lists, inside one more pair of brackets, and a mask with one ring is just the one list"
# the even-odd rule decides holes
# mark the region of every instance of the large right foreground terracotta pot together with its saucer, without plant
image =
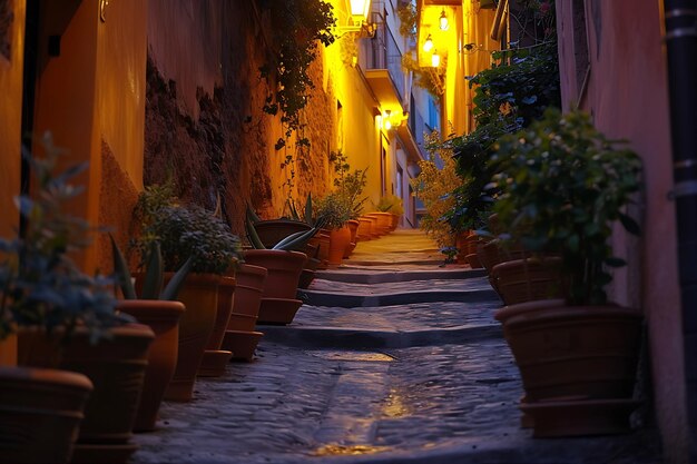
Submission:
[[534,436],[629,432],[641,343],[640,312],[618,305],[567,306],[561,299],[507,306],[495,314],[526,389],[520,408]]

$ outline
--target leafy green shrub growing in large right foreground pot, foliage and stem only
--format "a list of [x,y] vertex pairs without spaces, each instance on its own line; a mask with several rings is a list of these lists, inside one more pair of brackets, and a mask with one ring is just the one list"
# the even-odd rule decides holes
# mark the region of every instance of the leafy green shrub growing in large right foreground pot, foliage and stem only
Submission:
[[561,257],[569,304],[603,304],[609,267],[625,261],[608,239],[619,220],[632,234],[625,208],[639,190],[640,158],[598,132],[588,115],[556,109],[497,145],[498,220],[533,251]]

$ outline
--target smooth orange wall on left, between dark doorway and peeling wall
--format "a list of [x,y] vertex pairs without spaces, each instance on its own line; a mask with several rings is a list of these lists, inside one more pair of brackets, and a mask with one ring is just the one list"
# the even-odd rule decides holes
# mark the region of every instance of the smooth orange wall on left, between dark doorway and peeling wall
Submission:
[[[50,130],[69,155],[66,164],[89,161],[78,181],[87,190],[73,213],[95,225],[125,230],[135,198],[101,201],[105,185],[143,185],[145,127],[146,4],[139,0],[110,2],[102,21],[98,1],[73,2],[71,17],[61,17],[65,3],[42,3],[40,43],[60,34],[60,56],[40,57],[36,101],[36,132]],[[102,144],[109,148],[105,150]],[[120,169],[102,169],[108,154]],[[126,176],[121,176],[121,170]],[[118,172],[118,179],[114,179]],[[111,177],[109,177],[111,176]],[[100,220],[107,219],[107,223]],[[106,236],[79,258],[86,270],[110,268]]]

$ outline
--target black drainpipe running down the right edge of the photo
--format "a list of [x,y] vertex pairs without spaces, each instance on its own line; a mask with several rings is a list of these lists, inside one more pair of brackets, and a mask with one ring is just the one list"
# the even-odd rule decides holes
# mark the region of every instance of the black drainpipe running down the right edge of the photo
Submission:
[[[697,0],[664,0],[687,418],[697,434]],[[690,447],[695,447],[693,443]],[[697,462],[697,450],[690,450]]]

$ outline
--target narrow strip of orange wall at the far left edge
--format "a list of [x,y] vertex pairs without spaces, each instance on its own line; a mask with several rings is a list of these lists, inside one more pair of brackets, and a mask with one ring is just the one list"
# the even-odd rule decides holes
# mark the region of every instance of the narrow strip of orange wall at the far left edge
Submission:
[[[9,237],[19,225],[12,198],[19,194],[24,53],[24,0],[13,1],[10,26],[10,59],[0,55],[0,236]],[[17,339],[0,342],[0,365],[17,363]]]

